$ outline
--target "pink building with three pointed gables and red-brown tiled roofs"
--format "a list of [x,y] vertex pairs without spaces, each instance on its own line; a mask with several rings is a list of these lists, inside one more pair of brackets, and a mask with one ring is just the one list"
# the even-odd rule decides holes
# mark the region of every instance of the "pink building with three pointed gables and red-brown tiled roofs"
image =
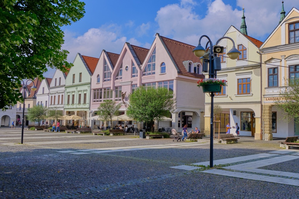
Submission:
[[[94,116],[103,99],[119,102],[120,112],[125,113],[126,106],[130,104],[128,95],[136,88],[167,87],[176,94],[176,110],[171,113],[172,121],[159,121],[155,128],[171,127],[181,131],[182,127],[188,124],[189,128],[198,127],[203,132],[205,99],[196,82],[204,78],[204,75],[201,62],[192,53],[194,48],[195,46],[162,37],[157,33],[150,49],[126,42],[120,55],[103,51],[91,77],[89,116]],[[117,56],[119,57],[116,63],[113,63],[112,60]],[[121,92],[126,92],[125,103],[121,100]],[[100,122],[96,121],[95,124],[100,125]],[[145,124],[139,125],[139,128],[142,128]]]

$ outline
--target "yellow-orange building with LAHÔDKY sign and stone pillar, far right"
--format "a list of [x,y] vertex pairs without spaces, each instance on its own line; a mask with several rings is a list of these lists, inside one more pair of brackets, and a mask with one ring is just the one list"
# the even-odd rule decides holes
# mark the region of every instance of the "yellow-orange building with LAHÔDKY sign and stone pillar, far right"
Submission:
[[[296,122],[284,121],[285,112],[279,111],[274,102],[281,90],[288,87],[287,79],[299,75],[299,10],[292,10],[284,17],[260,47],[262,54],[262,129],[265,140],[299,136]],[[297,69],[298,68],[298,69]]]

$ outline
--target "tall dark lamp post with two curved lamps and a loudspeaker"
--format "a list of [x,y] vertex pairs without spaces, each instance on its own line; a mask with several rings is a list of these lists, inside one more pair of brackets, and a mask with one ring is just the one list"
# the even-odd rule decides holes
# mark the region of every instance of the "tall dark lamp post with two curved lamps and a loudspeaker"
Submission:
[[[210,49],[206,50],[206,48],[202,47],[202,45],[200,44],[201,39],[205,37],[207,38],[209,41],[206,44],[206,48],[208,47],[208,44],[210,44]],[[222,37],[219,38],[216,42],[216,45],[213,46],[212,41],[210,40],[210,38],[206,35],[203,35],[199,38],[199,42],[198,42],[198,46],[196,48],[194,48],[194,50],[192,51],[194,53],[194,55],[196,57],[199,57],[201,59],[208,59],[209,60],[209,78],[216,78],[217,77],[217,70],[221,70],[221,63],[215,55],[217,53],[223,53],[223,48],[221,46],[217,46],[218,42],[222,39],[230,39],[233,42],[233,47],[232,49],[227,53],[228,57],[231,59],[237,59],[239,57],[239,55],[241,54],[235,47],[235,42],[233,41],[232,38],[230,37]],[[204,62],[204,61],[202,61]],[[208,72],[207,71],[207,65],[205,66],[205,64],[203,63],[203,68],[205,68],[205,70],[203,70],[204,72]],[[215,92],[210,92],[210,96],[211,96],[211,115],[210,115],[210,167],[213,167],[213,115],[214,115],[214,96],[215,96]]]

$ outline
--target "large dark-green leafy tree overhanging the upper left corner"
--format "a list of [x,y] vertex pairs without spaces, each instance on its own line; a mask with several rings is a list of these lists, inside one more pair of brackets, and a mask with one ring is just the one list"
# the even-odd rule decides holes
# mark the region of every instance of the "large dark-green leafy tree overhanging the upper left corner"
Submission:
[[[62,26],[84,16],[80,0],[0,0],[0,109],[22,100],[22,79],[43,78],[46,66],[65,72]],[[65,67],[63,67],[63,65]]]

